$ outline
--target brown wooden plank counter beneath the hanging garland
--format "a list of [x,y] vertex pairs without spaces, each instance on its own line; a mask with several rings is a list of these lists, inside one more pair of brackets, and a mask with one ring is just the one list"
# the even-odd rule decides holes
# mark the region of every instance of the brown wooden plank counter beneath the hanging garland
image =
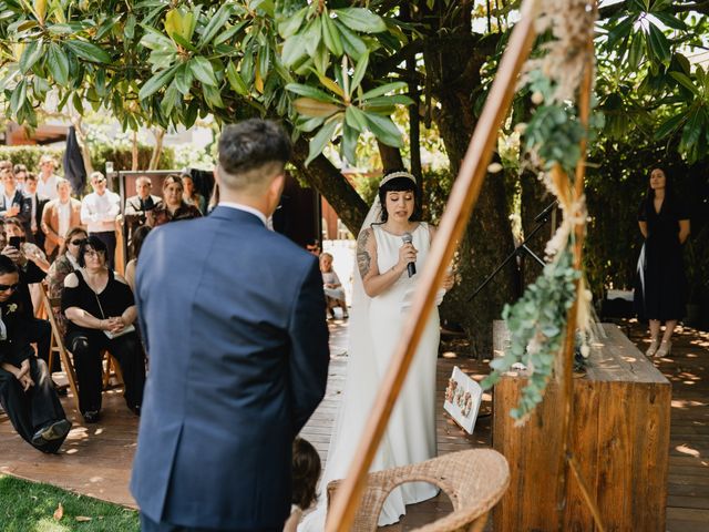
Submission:
[[[572,451],[607,531],[665,531],[669,459],[669,381],[615,325],[592,347],[586,375],[574,379]],[[495,354],[508,344],[494,325]],[[555,489],[561,452],[558,387],[523,427],[510,410],[525,385],[510,372],[494,389],[493,447],[510,462],[510,489],[495,508],[495,532],[597,530],[569,472],[563,523]],[[559,524],[562,526],[559,528]]]

